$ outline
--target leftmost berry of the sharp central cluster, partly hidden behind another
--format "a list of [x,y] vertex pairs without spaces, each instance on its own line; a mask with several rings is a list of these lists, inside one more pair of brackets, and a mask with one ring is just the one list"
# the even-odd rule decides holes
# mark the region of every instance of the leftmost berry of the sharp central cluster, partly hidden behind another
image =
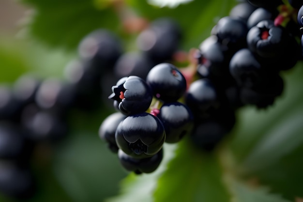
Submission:
[[119,150],[115,139],[115,133],[118,125],[125,118],[126,116],[124,114],[116,112],[106,117],[100,125],[99,137],[108,143],[108,147],[113,153],[117,153]]

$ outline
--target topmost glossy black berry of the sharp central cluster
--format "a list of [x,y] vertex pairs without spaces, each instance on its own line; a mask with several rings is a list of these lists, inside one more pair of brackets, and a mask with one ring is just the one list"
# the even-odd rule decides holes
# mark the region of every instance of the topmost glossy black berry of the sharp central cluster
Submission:
[[186,91],[186,80],[176,66],[160,63],[148,73],[146,82],[151,86],[153,95],[164,102],[174,102]]

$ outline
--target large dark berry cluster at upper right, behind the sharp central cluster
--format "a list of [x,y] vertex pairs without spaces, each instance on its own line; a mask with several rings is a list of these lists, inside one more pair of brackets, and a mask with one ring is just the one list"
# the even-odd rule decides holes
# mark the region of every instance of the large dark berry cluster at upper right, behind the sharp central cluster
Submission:
[[199,79],[185,99],[194,112],[194,143],[213,149],[233,128],[237,109],[246,105],[265,109],[281,95],[280,72],[292,68],[302,52],[293,3],[298,2],[241,2],[200,44]]

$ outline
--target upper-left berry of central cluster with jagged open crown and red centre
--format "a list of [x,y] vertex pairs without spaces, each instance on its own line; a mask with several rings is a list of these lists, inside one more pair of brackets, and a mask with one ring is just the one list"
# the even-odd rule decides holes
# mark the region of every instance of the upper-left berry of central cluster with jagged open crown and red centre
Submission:
[[114,100],[114,107],[123,114],[130,115],[146,111],[152,103],[152,90],[137,76],[121,78],[112,87],[108,98]]

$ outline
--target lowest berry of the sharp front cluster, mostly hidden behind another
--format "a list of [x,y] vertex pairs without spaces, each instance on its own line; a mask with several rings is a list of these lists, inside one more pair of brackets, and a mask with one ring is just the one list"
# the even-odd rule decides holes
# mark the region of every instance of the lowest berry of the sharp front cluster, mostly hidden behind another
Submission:
[[136,174],[151,173],[159,167],[163,159],[163,148],[157,154],[141,159],[129,156],[120,149],[118,157],[127,171],[134,171]]

